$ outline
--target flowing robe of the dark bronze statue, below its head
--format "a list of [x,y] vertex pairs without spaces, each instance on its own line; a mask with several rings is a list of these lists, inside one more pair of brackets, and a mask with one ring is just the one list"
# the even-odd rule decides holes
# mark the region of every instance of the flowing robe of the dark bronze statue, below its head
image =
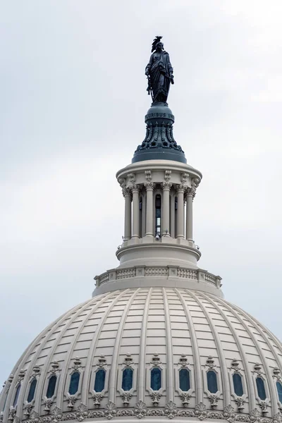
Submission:
[[166,102],[173,68],[166,51],[155,51],[146,66],[149,71],[154,102]]

